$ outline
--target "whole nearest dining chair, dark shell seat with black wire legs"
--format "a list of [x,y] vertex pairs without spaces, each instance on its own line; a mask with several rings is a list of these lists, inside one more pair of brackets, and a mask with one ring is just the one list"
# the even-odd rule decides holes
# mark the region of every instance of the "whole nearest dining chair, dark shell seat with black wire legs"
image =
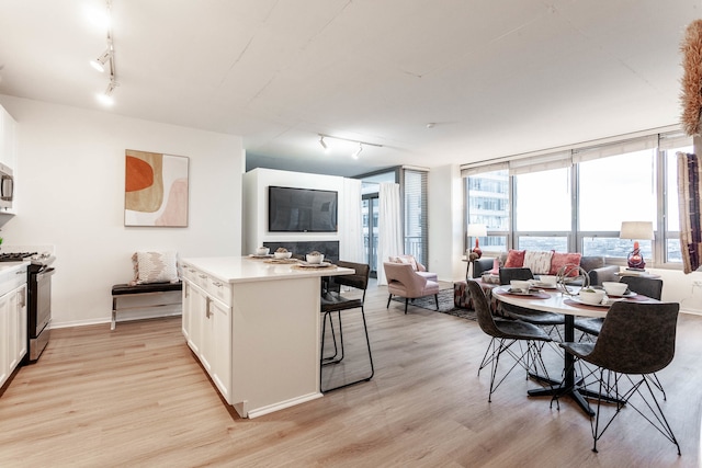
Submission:
[[[580,366],[580,375],[584,376],[581,386],[587,388],[596,384],[599,387],[595,421],[590,419],[592,452],[597,452],[597,442],[620,410],[627,406],[672,442],[680,455],[680,445],[647,378],[667,367],[675,356],[679,310],[680,305],[673,303],[614,303],[607,312],[595,343],[561,343],[565,352],[575,357],[575,363],[586,363]],[[630,386],[622,388],[622,383],[629,383]],[[641,397],[643,404],[632,401],[634,395]],[[556,401],[558,396],[554,395]],[[602,401],[615,401],[615,408],[601,427]]]

